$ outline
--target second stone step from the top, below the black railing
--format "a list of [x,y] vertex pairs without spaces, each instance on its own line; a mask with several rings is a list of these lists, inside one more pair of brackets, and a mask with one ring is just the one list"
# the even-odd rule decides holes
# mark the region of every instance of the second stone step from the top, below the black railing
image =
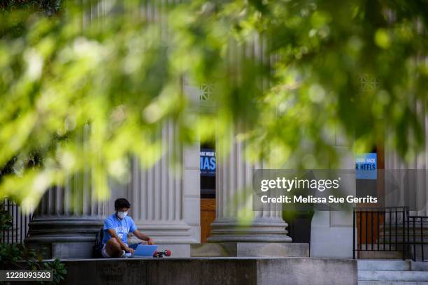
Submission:
[[391,270],[359,270],[358,271],[358,281],[428,282],[428,272],[425,272],[425,271],[391,271]]

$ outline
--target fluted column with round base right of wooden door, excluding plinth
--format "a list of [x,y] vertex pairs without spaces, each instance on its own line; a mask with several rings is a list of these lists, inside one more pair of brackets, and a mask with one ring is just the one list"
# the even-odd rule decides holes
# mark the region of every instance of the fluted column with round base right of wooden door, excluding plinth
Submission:
[[[217,145],[217,154],[226,149]],[[229,146],[226,146],[229,147]],[[280,207],[252,211],[252,175],[261,168],[244,159],[242,142],[232,142],[227,156],[217,156],[216,218],[209,242],[291,242]]]

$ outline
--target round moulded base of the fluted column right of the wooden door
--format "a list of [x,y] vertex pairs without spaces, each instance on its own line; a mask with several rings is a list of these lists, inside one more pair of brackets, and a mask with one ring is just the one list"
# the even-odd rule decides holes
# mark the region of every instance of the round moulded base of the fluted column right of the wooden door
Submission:
[[243,226],[236,219],[216,219],[208,242],[292,242],[281,218],[256,218]]

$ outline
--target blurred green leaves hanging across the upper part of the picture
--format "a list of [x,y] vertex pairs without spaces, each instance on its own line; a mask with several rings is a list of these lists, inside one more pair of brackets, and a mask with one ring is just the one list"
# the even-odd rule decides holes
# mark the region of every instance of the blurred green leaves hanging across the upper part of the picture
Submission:
[[[424,145],[427,1],[165,2],[2,4],[0,197],[34,205],[90,173],[107,198],[129,156],[168,151],[166,122],[271,167],[334,167],[336,134],[409,160]],[[207,82],[215,112],[185,88]]]

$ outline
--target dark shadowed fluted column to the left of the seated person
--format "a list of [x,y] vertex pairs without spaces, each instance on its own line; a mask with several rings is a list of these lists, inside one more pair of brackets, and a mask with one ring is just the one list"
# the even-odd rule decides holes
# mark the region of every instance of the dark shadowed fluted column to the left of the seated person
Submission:
[[[89,134],[89,126],[83,138]],[[99,202],[90,180],[90,169],[74,175],[62,187],[48,189],[41,198],[25,243],[46,247],[48,257],[90,258],[92,244],[106,218],[106,203]]]

